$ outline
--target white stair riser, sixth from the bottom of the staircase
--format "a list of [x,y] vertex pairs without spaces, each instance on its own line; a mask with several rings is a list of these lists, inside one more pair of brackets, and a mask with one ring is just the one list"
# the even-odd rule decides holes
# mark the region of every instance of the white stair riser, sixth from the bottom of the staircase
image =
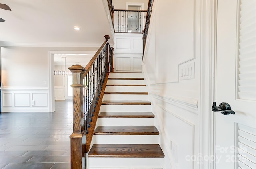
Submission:
[[106,86],[105,92],[146,92],[146,86]]

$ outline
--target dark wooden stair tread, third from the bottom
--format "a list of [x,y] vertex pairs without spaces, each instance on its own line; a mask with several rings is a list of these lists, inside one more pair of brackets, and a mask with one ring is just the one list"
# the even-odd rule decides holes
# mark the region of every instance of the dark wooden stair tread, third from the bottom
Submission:
[[152,112],[101,112],[98,118],[154,118]]

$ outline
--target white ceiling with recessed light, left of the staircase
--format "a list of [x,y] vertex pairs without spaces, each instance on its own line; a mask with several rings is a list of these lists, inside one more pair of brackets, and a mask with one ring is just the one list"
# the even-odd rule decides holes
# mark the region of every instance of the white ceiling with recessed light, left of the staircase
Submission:
[[[111,30],[102,0],[1,0],[0,45],[100,46]],[[73,29],[81,28],[80,31]],[[113,43],[112,39],[110,43]]]

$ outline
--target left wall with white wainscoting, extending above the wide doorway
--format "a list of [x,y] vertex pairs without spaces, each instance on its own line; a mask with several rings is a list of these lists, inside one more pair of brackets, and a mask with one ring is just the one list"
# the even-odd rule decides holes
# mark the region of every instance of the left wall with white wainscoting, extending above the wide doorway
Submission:
[[52,65],[54,69],[54,55],[49,56],[49,51],[97,50],[98,47],[2,47],[2,112],[54,111],[54,70],[50,72]]

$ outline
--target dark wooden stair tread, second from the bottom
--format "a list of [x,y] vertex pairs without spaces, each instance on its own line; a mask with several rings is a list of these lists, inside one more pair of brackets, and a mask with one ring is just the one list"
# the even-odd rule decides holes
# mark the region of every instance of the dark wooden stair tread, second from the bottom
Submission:
[[155,126],[98,126],[94,135],[158,135]]

